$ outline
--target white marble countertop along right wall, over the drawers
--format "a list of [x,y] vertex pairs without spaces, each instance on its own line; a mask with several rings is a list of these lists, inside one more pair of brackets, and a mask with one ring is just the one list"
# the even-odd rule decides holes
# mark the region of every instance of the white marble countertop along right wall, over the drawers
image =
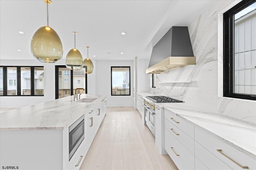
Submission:
[[156,105],[176,113],[182,119],[256,159],[256,125],[254,123],[218,113],[184,109],[188,108],[184,103],[158,103]]

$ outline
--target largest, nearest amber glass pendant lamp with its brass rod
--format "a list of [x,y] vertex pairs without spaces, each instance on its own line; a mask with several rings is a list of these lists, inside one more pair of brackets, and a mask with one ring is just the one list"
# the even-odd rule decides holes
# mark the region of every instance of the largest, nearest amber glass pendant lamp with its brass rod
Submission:
[[63,47],[56,31],[49,27],[48,4],[52,2],[51,0],[44,0],[44,2],[47,4],[47,26],[40,27],[34,33],[30,43],[30,50],[38,61],[55,63],[62,58]]

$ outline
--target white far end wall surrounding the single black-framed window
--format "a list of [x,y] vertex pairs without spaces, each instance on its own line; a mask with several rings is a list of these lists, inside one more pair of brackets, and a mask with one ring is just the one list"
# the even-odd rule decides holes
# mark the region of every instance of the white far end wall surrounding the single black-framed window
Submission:
[[[108,106],[133,106],[133,61],[96,61],[96,94],[107,94]],[[111,96],[111,66],[130,66],[130,96]]]

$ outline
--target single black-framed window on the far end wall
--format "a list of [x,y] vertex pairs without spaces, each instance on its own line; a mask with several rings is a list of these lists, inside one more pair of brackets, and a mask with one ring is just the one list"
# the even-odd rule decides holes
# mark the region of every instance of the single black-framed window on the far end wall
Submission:
[[130,66],[111,67],[111,95],[130,96]]

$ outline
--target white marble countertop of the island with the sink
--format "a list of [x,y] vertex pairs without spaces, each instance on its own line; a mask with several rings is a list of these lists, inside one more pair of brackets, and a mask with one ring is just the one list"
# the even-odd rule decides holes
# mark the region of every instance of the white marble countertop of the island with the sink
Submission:
[[73,96],[0,113],[0,130],[58,130],[69,127],[86,108],[106,95],[82,94],[81,98],[97,98],[91,103],[74,102]]

